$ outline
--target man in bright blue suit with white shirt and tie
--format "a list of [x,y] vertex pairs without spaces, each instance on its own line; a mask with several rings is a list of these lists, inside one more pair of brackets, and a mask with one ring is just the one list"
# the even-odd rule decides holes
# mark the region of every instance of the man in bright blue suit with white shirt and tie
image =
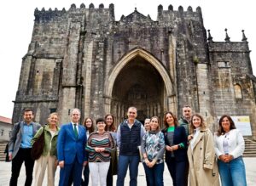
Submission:
[[59,186],[68,185],[69,178],[73,186],[81,184],[82,169],[87,164],[85,154],[86,129],[79,125],[81,112],[71,110],[71,122],[61,126],[58,136],[57,152],[61,168]]

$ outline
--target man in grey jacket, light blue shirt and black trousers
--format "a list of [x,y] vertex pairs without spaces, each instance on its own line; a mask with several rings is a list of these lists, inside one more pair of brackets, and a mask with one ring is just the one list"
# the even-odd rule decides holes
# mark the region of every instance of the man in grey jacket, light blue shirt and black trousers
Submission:
[[23,161],[26,167],[25,186],[32,185],[34,160],[31,156],[31,139],[34,137],[40,124],[33,122],[33,112],[26,109],[23,112],[24,121],[15,123],[9,140],[9,160],[12,161],[12,176],[9,185],[16,186]]

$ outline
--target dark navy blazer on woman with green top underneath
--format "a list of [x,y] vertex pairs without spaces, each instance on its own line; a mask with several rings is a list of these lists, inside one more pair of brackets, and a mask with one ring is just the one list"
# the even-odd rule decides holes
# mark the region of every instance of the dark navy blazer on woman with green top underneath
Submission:
[[[166,145],[170,145],[167,139],[167,129],[162,130],[165,136],[165,143]],[[187,155],[187,133],[184,127],[177,126],[174,129],[174,136],[173,136],[173,144],[180,144],[183,143],[185,148],[174,150],[174,158],[175,161],[188,161]],[[170,162],[172,158],[172,153],[166,150],[166,162]]]

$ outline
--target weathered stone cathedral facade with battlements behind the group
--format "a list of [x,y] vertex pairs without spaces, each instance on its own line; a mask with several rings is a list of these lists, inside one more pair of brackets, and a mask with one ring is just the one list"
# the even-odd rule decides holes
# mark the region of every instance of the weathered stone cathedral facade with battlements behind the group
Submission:
[[188,104],[212,130],[223,114],[250,116],[255,136],[256,78],[244,32],[241,42],[227,31],[215,42],[200,7],[156,9],[157,20],[137,8],[116,20],[113,4],[36,8],[13,121],[32,108],[42,124],[53,111],[67,122],[77,107],[82,119],[112,113],[118,124],[131,105],[143,121],[167,110],[181,116]]

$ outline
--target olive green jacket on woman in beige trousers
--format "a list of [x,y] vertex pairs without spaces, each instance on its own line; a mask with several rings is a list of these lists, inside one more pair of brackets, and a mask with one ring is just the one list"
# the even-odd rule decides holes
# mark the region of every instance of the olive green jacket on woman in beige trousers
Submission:
[[[44,127],[40,127],[38,132],[35,134],[34,138],[32,138],[31,144],[34,144],[35,141],[39,138],[39,136],[42,134],[44,131],[44,152],[43,155],[54,155],[57,157],[57,138],[58,138],[58,133],[60,131],[60,128],[57,127],[57,131],[54,134],[54,137],[51,140],[51,133],[49,132],[49,126],[45,125]],[[51,148],[49,149],[49,144],[51,140]]]

